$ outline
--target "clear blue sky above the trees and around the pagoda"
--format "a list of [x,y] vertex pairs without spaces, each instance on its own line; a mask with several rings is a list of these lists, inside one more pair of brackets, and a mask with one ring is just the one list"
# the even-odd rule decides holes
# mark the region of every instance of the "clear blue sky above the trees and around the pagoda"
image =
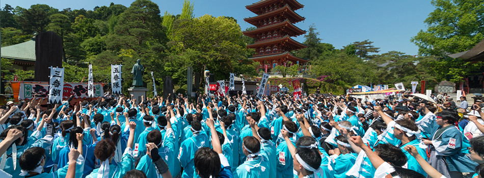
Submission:
[[[244,18],[255,16],[245,6],[257,1],[192,0],[195,4],[195,17],[205,14],[231,16],[237,19],[243,31],[252,26],[245,22]],[[47,4],[59,10],[65,8],[92,10],[96,6],[109,6],[111,2],[129,7],[133,1],[2,0],[1,5],[2,8],[5,4],[29,8],[33,4]],[[165,11],[172,14],[181,13],[182,0],[154,0],[153,2],[158,4],[162,14]],[[299,0],[299,2],[305,7],[296,12],[306,20],[296,25],[307,30],[309,25],[314,23],[319,32],[319,38],[322,39],[321,42],[342,48],[352,42],[369,39],[374,42],[374,46],[381,48],[380,53],[395,50],[410,55],[418,53],[418,47],[410,42],[410,38],[417,35],[420,29],[426,29],[423,20],[435,9],[429,0]],[[304,42],[303,36],[295,39]]]

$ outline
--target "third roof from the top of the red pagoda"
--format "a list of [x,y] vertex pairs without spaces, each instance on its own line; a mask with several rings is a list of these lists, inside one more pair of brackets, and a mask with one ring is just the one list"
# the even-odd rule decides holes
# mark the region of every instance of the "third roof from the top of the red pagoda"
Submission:
[[243,33],[246,36],[255,38],[257,34],[274,31],[275,29],[282,29],[286,34],[289,34],[289,36],[291,37],[303,35],[306,33],[306,31],[303,31],[301,28],[295,26],[294,24],[289,22],[289,20],[284,20],[283,22],[280,22],[280,23],[275,23],[272,25],[260,27],[252,31],[246,31]]

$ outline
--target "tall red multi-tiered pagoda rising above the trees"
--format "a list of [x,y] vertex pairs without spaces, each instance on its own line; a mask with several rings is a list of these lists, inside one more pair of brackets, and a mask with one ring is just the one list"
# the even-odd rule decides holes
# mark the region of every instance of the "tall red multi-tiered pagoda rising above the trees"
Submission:
[[257,14],[244,19],[257,28],[243,33],[255,39],[254,44],[247,47],[255,49],[256,54],[250,59],[260,63],[259,70],[267,68],[270,72],[274,66],[286,65],[289,61],[300,65],[308,62],[290,53],[307,47],[291,38],[306,33],[294,25],[305,19],[294,12],[303,7],[296,0],[261,0],[246,6]]

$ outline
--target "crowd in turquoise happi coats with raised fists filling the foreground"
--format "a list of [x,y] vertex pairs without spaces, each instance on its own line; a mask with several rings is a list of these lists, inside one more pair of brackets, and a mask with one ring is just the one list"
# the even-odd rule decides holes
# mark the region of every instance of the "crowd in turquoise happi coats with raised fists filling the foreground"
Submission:
[[42,102],[0,107],[2,177],[474,178],[484,169],[479,103],[460,113],[407,94],[319,91]]

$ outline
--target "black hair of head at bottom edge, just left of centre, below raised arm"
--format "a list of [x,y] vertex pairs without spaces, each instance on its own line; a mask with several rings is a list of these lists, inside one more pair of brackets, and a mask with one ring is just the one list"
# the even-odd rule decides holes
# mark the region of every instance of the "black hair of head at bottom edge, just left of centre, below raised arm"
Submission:
[[195,152],[193,158],[196,172],[201,178],[208,178],[210,176],[217,177],[220,172],[220,158],[217,152],[208,147],[201,147]]

